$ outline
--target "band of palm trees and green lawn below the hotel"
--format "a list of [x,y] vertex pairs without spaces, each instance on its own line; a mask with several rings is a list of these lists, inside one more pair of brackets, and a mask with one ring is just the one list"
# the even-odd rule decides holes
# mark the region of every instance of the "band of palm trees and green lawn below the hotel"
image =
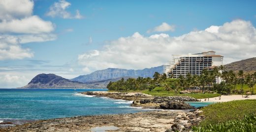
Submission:
[[[122,78],[116,82],[109,82],[107,88],[114,91],[140,90],[143,93],[156,96],[192,96],[195,98],[210,98],[220,94],[254,94],[256,86],[256,72],[244,74],[242,70],[225,71],[224,66],[204,69],[201,75],[188,73],[186,77],[180,75],[174,79],[166,74],[155,72],[153,78],[138,77]],[[185,94],[184,93],[191,93]],[[194,94],[193,94],[194,93]],[[195,94],[196,93],[196,94]]]

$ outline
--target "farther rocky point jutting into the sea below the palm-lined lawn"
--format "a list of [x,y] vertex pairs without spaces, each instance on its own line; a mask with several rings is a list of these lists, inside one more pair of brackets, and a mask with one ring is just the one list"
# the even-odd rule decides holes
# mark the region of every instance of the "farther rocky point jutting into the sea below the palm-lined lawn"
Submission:
[[81,92],[86,95],[97,97],[109,97],[112,99],[123,99],[133,101],[130,106],[143,107],[151,109],[169,109],[169,110],[191,110],[196,109],[186,102],[198,102],[199,100],[188,96],[168,96],[155,97],[152,95],[137,92],[107,92],[107,91],[88,91]]

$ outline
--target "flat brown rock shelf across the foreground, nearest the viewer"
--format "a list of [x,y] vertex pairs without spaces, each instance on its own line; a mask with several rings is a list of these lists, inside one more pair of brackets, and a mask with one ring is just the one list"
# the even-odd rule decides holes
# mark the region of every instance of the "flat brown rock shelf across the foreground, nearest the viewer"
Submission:
[[197,125],[203,119],[200,112],[158,110],[58,118],[0,128],[0,132],[93,132],[92,129],[102,126],[118,128],[108,132],[189,132],[192,125]]

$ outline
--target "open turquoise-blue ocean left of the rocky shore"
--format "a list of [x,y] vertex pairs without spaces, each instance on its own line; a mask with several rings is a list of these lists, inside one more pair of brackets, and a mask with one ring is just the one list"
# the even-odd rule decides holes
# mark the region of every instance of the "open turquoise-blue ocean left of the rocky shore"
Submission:
[[0,122],[145,111],[129,107],[130,101],[78,93],[82,91],[95,89],[0,89]]

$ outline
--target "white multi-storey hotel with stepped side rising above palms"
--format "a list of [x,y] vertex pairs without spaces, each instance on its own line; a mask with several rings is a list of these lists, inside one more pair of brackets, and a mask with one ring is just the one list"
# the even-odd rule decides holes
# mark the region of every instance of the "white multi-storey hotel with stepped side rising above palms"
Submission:
[[223,56],[216,55],[215,51],[202,52],[188,55],[172,55],[170,65],[164,66],[168,77],[186,77],[189,72],[192,75],[200,75],[204,68],[212,70],[215,66],[223,65]]

